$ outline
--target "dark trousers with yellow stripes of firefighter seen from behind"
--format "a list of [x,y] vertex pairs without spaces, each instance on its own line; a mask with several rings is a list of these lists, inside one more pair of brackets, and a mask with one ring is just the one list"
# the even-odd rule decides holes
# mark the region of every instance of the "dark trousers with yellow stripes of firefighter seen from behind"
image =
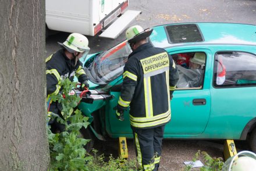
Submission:
[[158,170],[162,154],[162,139],[165,125],[152,129],[133,129],[133,138],[138,165],[143,170]]

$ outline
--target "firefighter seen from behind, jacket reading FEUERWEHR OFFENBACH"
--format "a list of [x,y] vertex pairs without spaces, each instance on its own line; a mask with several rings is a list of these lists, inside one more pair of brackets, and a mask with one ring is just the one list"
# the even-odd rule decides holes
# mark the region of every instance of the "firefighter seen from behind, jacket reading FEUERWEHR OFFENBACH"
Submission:
[[140,26],[126,31],[133,52],[124,68],[116,111],[123,120],[123,111],[130,106],[137,161],[143,170],[159,168],[163,130],[170,121],[170,99],[179,80],[172,56],[147,42],[151,33]]

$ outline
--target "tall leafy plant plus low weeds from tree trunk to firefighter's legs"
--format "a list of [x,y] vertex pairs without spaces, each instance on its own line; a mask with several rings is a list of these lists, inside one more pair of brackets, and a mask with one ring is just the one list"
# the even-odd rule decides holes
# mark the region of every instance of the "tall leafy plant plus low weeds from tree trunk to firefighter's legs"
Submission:
[[[93,149],[93,155],[89,154],[84,145],[90,140],[81,138],[81,127],[87,128],[88,117],[83,116],[76,109],[80,102],[79,95],[69,95],[76,87],[69,79],[62,80],[60,84],[62,94],[51,95],[51,100],[62,104],[62,119],[52,113],[52,118],[65,125],[65,130],[60,133],[52,133],[48,126],[48,140],[50,149],[51,170],[136,170],[136,161],[126,161],[121,158],[105,158],[104,154],[97,156],[97,150]],[[74,111],[74,109],[76,109]]]

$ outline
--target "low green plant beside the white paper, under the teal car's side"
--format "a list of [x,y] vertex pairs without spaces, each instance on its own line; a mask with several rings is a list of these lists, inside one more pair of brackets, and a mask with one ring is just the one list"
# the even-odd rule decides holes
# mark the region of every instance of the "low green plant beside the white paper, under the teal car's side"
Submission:
[[[207,154],[205,151],[198,150],[195,154],[195,157],[193,158],[192,162],[197,161],[202,156],[204,166],[200,168],[201,171],[217,171],[221,170],[222,166],[224,164],[223,159],[221,157],[219,158],[212,158],[210,155]],[[184,170],[193,170],[193,163],[191,165],[187,165]]]

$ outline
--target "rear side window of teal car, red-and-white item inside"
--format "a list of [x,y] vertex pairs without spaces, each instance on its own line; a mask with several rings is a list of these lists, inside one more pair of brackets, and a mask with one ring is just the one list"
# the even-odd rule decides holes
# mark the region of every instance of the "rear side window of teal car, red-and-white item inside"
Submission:
[[256,55],[218,52],[214,62],[214,87],[256,85]]

